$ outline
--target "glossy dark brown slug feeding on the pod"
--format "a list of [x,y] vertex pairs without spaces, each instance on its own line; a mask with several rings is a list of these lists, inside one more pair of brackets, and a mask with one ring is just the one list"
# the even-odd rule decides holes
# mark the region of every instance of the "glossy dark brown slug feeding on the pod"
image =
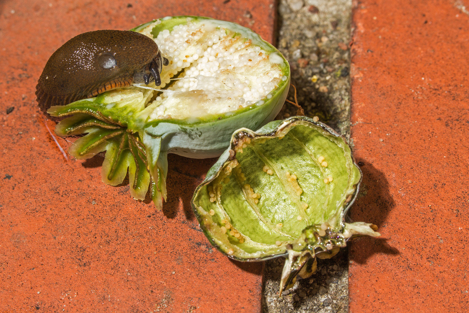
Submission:
[[149,37],[134,31],[90,31],[68,40],[45,64],[36,86],[43,112],[134,83],[161,84],[168,60]]

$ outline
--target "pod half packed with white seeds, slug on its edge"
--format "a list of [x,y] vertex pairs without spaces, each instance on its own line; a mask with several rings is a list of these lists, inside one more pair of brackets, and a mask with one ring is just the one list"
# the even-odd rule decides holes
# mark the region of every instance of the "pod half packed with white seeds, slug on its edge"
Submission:
[[256,33],[197,16],[165,17],[134,29],[153,38],[169,60],[160,86],[134,85],[48,113],[64,117],[59,136],[87,134],[69,149],[78,159],[106,151],[103,182],[122,183],[155,205],[166,200],[167,153],[219,156],[234,130],[272,121],[287,97],[288,62]]

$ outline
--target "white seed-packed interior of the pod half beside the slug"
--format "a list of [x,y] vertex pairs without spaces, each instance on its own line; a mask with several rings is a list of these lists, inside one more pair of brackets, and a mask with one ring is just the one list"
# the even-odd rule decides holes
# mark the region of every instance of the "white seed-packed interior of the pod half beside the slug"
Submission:
[[[151,30],[159,23],[141,32],[152,37]],[[282,76],[279,63],[284,60],[279,55],[269,56],[251,40],[210,20],[188,18],[187,24],[161,31],[154,40],[169,65],[156,87],[166,89],[145,109],[150,120],[229,115],[252,104],[260,106],[287,78]],[[178,73],[182,79],[169,80]]]

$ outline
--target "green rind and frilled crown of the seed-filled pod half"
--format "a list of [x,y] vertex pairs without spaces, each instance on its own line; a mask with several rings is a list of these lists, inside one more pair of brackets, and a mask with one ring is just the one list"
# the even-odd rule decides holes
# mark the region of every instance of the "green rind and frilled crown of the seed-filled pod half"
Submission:
[[[70,148],[69,152],[73,156],[87,159],[107,150],[104,163],[106,166],[102,168],[103,182],[112,185],[121,183],[125,177],[123,173],[125,174],[129,166],[133,168],[131,172],[135,173],[131,175],[134,176],[131,178],[131,183],[134,184],[134,188],[130,188],[132,196],[144,199],[150,184],[153,202],[157,208],[162,206],[161,197],[166,200],[167,153],[190,158],[219,156],[229,145],[229,138],[234,130],[239,127],[257,129],[278,114],[290,84],[290,68],[281,53],[256,33],[236,23],[197,16],[175,16],[162,19],[162,23],[154,26],[151,33],[156,37],[159,31],[187,23],[188,19],[210,20],[219,25],[228,25],[237,33],[250,36],[248,38],[253,44],[261,46],[269,54],[276,54],[284,79],[272,91],[272,98],[264,99],[265,103],[260,106],[253,104],[228,114],[207,115],[192,120],[166,118],[150,121],[144,110],[145,101],[151,98],[151,92],[130,87],[113,89],[95,98],[78,100],[67,106],[55,106],[48,110],[49,114],[60,118],[75,115],[57,125],[56,133],[59,136],[88,133]],[[143,31],[154,22],[143,24],[134,30]],[[88,115],[88,118],[83,115]],[[111,132],[109,129],[119,130]],[[124,135],[124,132],[127,135]],[[109,137],[112,134],[117,135]],[[122,142],[126,144],[119,148]],[[143,144],[144,153],[124,153],[132,151],[131,149],[139,150],[139,143]],[[137,166],[138,164],[141,166]],[[142,168],[142,164],[148,169],[150,177],[137,170]]]

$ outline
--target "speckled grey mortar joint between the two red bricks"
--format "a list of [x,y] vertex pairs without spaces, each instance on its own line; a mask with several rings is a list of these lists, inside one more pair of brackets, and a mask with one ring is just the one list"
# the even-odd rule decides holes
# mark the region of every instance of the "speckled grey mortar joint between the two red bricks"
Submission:
[[[305,115],[348,137],[350,129],[350,0],[281,0],[278,47],[290,62]],[[289,99],[293,99],[291,88]],[[296,115],[286,104],[278,119]],[[316,274],[278,297],[284,258],[266,261],[263,312],[348,312],[348,249],[318,260]]]

